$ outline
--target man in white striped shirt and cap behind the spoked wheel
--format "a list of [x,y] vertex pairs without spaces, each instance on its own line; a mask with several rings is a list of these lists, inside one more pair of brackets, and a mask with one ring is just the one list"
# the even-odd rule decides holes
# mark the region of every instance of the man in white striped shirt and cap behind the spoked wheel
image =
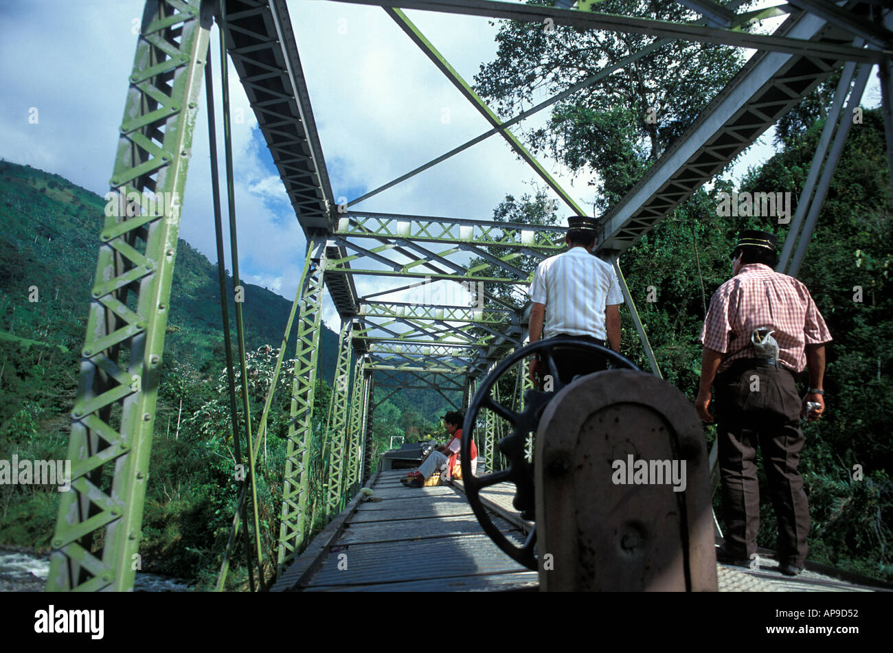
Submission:
[[[610,263],[593,256],[597,223],[587,216],[568,218],[564,241],[568,251],[543,260],[530,282],[530,342],[540,333],[552,338],[576,335],[620,351],[620,305],[623,295]],[[555,351],[555,364],[563,383],[573,376],[605,369],[605,360],[584,351]],[[530,378],[538,384],[538,360],[530,361]]]

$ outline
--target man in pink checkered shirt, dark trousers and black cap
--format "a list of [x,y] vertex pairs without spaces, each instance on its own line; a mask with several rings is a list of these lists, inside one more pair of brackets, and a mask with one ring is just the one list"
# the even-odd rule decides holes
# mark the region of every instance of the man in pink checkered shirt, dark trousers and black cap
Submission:
[[[822,378],[828,327],[806,286],[773,270],[776,236],[747,230],[732,252],[733,277],[714,293],[704,321],[701,383],[695,407],[706,422],[716,390],[717,441],[722,477],[726,542],[721,562],[747,565],[755,557],[760,525],[756,447],[763,450],[766,477],[779,525],[782,574],[802,571],[809,507],[797,471],[803,432],[800,417],[822,416]],[[801,401],[794,375],[809,368]],[[818,404],[807,410],[807,401]]]

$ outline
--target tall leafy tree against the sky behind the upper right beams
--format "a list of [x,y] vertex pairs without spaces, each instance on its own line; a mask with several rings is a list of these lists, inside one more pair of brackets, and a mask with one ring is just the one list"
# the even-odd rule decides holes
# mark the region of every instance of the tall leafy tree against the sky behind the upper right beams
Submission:
[[[554,4],[536,0],[528,4]],[[605,0],[594,11],[690,21],[679,3]],[[497,34],[497,58],[480,67],[475,90],[509,117],[534,103],[540,92],[555,95],[617,62],[654,38],[602,30],[505,21]],[[689,127],[739,70],[743,60],[724,45],[672,40],[621,70],[555,103],[547,127],[524,135],[533,153],[546,152],[573,171],[590,168],[609,208]],[[596,181],[596,178],[598,179]]]

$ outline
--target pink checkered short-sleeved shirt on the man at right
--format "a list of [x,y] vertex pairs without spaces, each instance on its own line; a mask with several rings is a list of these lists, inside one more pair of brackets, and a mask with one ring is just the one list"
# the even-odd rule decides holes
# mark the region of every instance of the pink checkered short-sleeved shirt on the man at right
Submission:
[[755,358],[750,335],[757,327],[775,329],[779,362],[795,372],[806,367],[805,345],[831,340],[805,285],[767,265],[751,263],[716,290],[701,329],[704,346],[725,354],[718,372],[733,360]]

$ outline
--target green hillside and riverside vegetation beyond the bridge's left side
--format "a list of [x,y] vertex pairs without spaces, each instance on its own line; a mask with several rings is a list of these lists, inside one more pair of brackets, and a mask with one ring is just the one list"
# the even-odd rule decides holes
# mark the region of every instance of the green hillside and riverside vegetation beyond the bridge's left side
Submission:
[[[86,334],[89,291],[104,219],[104,199],[64,178],[0,161],[0,458],[63,459]],[[188,216],[184,216],[188,219]],[[228,292],[232,279],[228,277]],[[29,301],[32,300],[32,301]],[[249,401],[254,432],[291,302],[246,285],[244,316]],[[230,309],[230,319],[234,320]],[[213,587],[236,509],[233,442],[216,266],[180,240],[164,343],[140,554],[144,569]],[[295,330],[293,329],[293,334]],[[233,339],[235,343],[235,338]],[[265,345],[271,345],[272,351]],[[295,337],[287,358],[294,352]],[[320,508],[321,434],[329,412],[338,335],[321,334],[313,410],[308,522],[326,523]],[[258,460],[258,503],[266,576],[276,559],[289,423],[288,366],[280,374],[267,437]],[[380,388],[383,399],[390,390]],[[239,402],[240,404],[241,402]],[[372,455],[391,435],[414,440],[439,434],[447,402],[410,391],[380,401],[371,426]],[[241,405],[239,405],[241,412]],[[240,415],[240,421],[244,416]],[[243,444],[244,448],[244,444]],[[105,478],[104,482],[109,479]],[[0,544],[48,548],[58,492],[40,485],[0,485]],[[245,589],[242,550],[227,586]]]

